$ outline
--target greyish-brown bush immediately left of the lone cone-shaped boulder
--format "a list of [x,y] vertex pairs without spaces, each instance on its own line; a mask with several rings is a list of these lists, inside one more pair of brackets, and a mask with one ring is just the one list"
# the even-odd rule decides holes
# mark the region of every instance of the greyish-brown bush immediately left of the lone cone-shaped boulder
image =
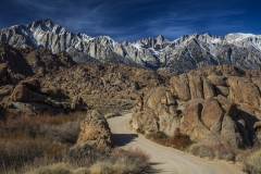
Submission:
[[78,119],[60,125],[47,124],[42,127],[41,133],[60,142],[75,144],[80,132],[80,122],[82,120]]

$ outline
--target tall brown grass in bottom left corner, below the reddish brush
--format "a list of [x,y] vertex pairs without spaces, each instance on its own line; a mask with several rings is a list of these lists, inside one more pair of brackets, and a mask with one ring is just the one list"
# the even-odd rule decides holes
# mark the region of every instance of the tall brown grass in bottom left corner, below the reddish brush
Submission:
[[[11,135],[11,134],[10,134]],[[26,135],[0,140],[0,171],[20,171],[24,165],[40,165],[63,158],[61,149],[67,147],[41,136],[32,138]]]

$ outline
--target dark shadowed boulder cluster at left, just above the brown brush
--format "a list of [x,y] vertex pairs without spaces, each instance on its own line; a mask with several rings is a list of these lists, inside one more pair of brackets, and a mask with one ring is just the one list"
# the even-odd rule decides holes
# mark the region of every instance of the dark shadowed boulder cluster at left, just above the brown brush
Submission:
[[[50,89],[58,91],[58,89]],[[36,114],[39,112],[69,113],[73,111],[85,111],[86,103],[78,96],[70,99],[61,98],[60,94],[48,95],[41,92],[40,82],[36,78],[22,80],[15,86],[10,96],[11,112]],[[48,89],[44,90],[48,91]]]

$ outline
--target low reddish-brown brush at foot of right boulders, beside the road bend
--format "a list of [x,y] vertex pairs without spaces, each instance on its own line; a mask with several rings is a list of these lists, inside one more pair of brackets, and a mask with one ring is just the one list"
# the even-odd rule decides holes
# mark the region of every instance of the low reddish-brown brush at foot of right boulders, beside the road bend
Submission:
[[176,132],[172,137],[169,137],[164,133],[159,132],[156,134],[147,135],[146,138],[157,144],[179,150],[185,150],[192,144],[188,136],[182,135],[179,132]]

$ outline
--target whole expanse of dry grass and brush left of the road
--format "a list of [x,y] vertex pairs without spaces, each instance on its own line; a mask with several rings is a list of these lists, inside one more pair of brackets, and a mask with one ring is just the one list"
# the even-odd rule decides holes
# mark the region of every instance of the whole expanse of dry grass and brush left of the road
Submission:
[[104,173],[104,169],[108,173],[140,173],[149,167],[148,156],[139,150],[72,148],[83,119],[79,114],[41,114],[0,121],[0,173],[87,174]]

